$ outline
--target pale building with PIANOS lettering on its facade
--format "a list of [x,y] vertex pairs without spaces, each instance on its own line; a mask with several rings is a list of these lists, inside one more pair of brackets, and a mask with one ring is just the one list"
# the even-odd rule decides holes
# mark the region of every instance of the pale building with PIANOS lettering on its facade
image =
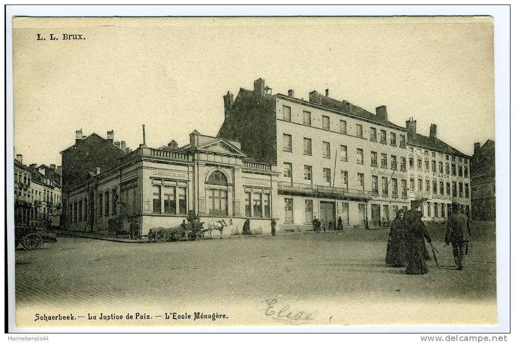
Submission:
[[417,133],[417,121],[406,121],[410,201],[422,201],[424,221],[445,222],[452,203],[470,217],[470,165],[468,155],[437,138],[431,124],[429,136]]

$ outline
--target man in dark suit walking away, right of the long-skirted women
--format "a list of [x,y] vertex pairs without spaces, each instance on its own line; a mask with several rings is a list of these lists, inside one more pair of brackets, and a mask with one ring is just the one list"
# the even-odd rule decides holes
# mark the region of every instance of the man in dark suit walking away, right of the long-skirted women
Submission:
[[463,213],[463,209],[457,209],[458,206],[458,204],[453,204],[453,214],[449,217],[447,222],[445,244],[452,244],[454,262],[457,266],[456,269],[462,270],[470,241],[471,228],[470,220]]

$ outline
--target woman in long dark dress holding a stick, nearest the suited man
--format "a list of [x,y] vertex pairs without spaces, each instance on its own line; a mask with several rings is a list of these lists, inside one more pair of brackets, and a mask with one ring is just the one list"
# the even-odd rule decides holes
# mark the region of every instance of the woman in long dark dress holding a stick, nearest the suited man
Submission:
[[418,215],[410,216],[406,223],[406,240],[408,247],[406,274],[420,275],[426,274],[429,271],[424,258],[424,238],[427,240],[427,243],[431,243],[431,237],[429,236],[424,223],[420,219],[421,213],[419,212],[417,214]]

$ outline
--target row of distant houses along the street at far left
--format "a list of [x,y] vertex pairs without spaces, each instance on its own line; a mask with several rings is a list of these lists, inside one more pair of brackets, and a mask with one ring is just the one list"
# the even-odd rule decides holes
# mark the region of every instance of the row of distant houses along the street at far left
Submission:
[[[26,166],[23,156],[14,160],[14,223],[15,225],[59,225],[61,213],[60,168],[55,165]],[[49,176],[52,175],[52,176]]]

